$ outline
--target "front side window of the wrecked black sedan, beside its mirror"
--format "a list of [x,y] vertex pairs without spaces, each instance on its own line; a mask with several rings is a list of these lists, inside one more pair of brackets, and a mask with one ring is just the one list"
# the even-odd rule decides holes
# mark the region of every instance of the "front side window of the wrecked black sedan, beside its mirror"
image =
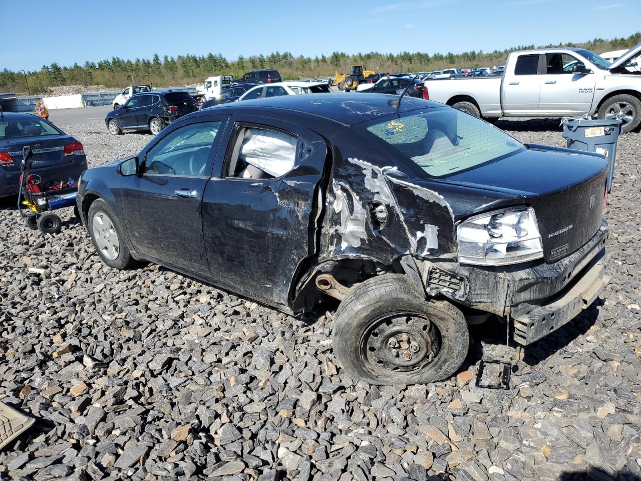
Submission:
[[185,125],[165,135],[145,158],[144,174],[203,176],[221,122]]

